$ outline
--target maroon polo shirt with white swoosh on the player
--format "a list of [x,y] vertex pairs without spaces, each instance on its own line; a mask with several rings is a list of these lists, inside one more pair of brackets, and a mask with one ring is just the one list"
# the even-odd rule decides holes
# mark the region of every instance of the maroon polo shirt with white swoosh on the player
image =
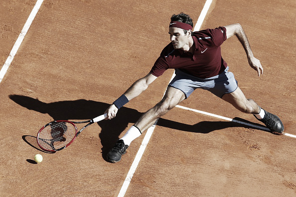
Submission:
[[194,54],[175,50],[169,43],[160,53],[150,73],[161,76],[167,69],[179,69],[187,74],[202,79],[216,76],[223,72],[227,63],[222,59],[220,45],[227,39],[226,28],[195,31],[192,35]]

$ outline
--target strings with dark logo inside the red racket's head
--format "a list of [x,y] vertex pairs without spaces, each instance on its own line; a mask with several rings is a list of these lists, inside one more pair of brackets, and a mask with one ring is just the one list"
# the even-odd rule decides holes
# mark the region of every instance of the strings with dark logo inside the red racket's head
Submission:
[[58,150],[69,144],[76,132],[76,127],[70,122],[52,122],[40,131],[38,142],[46,150]]

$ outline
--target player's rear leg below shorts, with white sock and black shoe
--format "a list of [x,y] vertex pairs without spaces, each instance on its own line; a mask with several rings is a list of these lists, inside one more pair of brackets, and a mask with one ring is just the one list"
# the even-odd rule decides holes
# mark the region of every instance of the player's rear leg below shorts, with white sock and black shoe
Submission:
[[263,122],[271,131],[283,133],[284,125],[277,115],[262,109],[253,99],[247,99],[238,87],[234,92],[225,94],[222,99],[245,113],[252,113]]

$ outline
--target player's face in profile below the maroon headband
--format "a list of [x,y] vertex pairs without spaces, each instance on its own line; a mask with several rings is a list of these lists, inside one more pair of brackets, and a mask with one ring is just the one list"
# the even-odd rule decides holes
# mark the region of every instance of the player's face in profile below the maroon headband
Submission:
[[189,43],[189,31],[184,33],[184,29],[178,27],[169,27],[168,34],[174,49],[184,49]]

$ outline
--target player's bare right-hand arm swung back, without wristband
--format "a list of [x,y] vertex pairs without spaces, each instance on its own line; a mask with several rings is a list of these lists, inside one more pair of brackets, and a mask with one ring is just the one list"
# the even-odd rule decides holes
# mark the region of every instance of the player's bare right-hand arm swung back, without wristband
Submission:
[[260,77],[260,74],[263,74],[263,67],[260,61],[254,57],[248,38],[243,30],[243,27],[239,23],[235,23],[235,24],[227,25],[225,26],[225,28],[226,28],[227,39],[232,37],[233,35],[236,35],[236,37],[242,43],[248,57],[249,65],[254,70],[257,71],[258,76]]

